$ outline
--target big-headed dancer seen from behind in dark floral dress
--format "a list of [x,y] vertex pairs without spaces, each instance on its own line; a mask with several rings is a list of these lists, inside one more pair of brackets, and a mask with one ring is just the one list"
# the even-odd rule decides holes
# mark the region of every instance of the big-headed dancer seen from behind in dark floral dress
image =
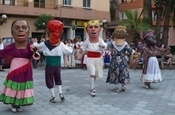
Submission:
[[117,26],[113,33],[114,41],[109,44],[111,50],[111,62],[106,83],[114,84],[114,91],[125,91],[125,85],[129,83],[128,62],[125,58],[131,55],[132,48],[125,41],[127,36],[125,26]]

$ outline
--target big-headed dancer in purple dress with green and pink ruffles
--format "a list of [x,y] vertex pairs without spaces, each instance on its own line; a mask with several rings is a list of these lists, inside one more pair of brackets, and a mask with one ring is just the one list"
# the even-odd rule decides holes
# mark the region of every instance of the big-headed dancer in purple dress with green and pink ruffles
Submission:
[[34,103],[32,55],[28,43],[29,24],[25,20],[16,20],[11,25],[11,33],[15,43],[0,50],[0,58],[11,56],[12,62],[4,81],[0,101],[11,104],[13,112],[22,111],[21,106]]

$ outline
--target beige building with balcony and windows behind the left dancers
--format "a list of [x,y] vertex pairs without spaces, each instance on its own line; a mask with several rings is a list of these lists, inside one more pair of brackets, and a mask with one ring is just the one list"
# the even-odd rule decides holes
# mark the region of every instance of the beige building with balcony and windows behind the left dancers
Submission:
[[[43,31],[36,31],[34,21],[40,14],[48,14],[63,21],[63,39],[79,37],[84,40],[87,37],[84,23],[90,19],[110,21],[109,7],[109,0],[0,0],[0,16],[8,17],[7,23],[0,25],[0,34],[10,37],[11,23],[24,19],[30,24],[30,36],[40,39]],[[102,30],[101,37],[103,35]]]

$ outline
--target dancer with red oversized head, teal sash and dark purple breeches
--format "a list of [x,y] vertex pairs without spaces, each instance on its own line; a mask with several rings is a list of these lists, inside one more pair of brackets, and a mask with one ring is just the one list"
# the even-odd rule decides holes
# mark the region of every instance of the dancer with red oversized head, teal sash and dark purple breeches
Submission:
[[61,80],[61,56],[63,54],[71,54],[73,48],[65,45],[61,42],[61,35],[63,33],[64,25],[59,20],[50,20],[47,23],[49,40],[40,44],[33,44],[31,49],[39,49],[43,52],[46,61],[45,67],[45,82],[50,91],[50,102],[55,103],[55,91],[54,86],[58,88],[59,97],[61,101],[64,101],[64,95],[62,93],[62,80]]

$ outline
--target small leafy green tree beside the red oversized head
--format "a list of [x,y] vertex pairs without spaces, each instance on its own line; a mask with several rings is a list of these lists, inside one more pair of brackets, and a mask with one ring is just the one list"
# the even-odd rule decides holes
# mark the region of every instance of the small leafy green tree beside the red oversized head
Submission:
[[53,16],[47,14],[41,14],[34,22],[36,30],[45,30],[47,22],[54,19]]

